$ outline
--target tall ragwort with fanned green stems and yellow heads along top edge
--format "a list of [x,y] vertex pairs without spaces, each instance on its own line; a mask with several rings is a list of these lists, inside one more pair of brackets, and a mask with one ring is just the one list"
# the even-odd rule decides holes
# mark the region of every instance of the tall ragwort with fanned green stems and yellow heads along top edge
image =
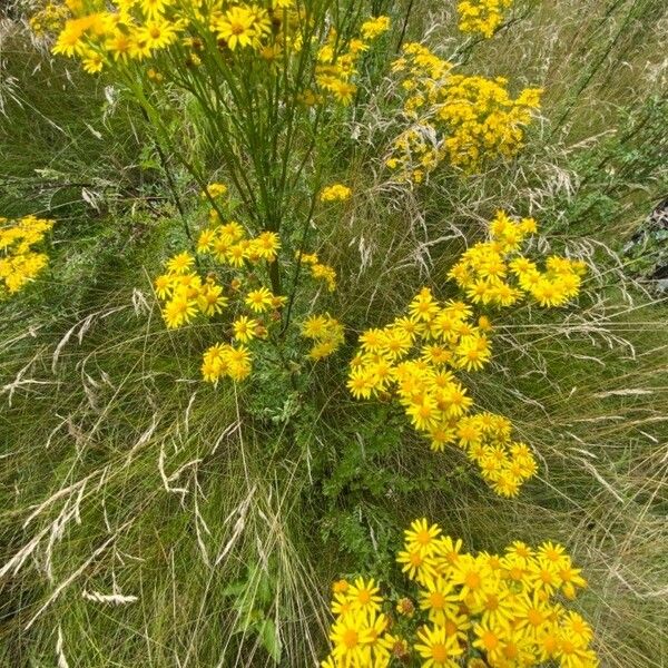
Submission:
[[[185,155],[164,120],[167,110],[180,109],[179,96],[194,100],[254,230],[281,234],[283,227],[289,235],[298,224],[306,236],[320,191],[318,129],[337,121],[340,107],[353,100],[356,63],[387,31],[386,17],[363,21],[361,6],[331,0],[124,0],[110,11],[104,2],[67,4],[72,17],[55,53],[77,57],[87,71],[107,72],[121,85],[163,150],[204,189],[205,168]],[[303,212],[298,222],[295,212]],[[279,263],[271,278],[279,294]]]

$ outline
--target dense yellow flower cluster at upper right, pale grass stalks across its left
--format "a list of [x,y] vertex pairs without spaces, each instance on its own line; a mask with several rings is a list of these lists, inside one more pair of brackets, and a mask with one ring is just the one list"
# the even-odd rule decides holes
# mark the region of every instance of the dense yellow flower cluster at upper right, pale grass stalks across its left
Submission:
[[393,63],[403,77],[403,116],[410,125],[385,164],[400,180],[421,183],[443,160],[472,173],[484,159],[512,157],[522,146],[541,90],[527,88],[512,99],[507,79],[455,75],[452,68],[419,43],[406,45]]

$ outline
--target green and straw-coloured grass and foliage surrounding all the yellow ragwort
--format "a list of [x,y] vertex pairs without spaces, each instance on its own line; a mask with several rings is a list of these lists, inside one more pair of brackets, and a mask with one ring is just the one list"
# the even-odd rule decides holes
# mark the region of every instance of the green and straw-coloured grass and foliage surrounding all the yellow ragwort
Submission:
[[[590,581],[579,605],[602,665],[665,665],[668,308],[646,279],[661,235],[625,248],[668,195],[668,7],[518,2],[480,41],[458,33],[452,2],[390,6],[394,43],[405,18],[464,69],[543,87],[542,116],[513,161],[413,191],[389,188],[376,155],[386,88],[364,91],[352,146],[323,131],[332,179],[355,188],[322,223],[350,340],[303,371],[308,397],[197,380],[206,332],[166,331],[151,292],[184,238],[144,119],[36,42],[24,4],[0,9],[0,213],[58,220],[49,272],[0,305],[1,665],[312,666],[330,582],[387,576],[423,515],[475,549],[563,542]],[[202,140],[187,115],[174,124]],[[497,322],[475,400],[543,458],[511,501],[343,389],[356,333],[443,284],[498,208],[598,269],[577,310]]]

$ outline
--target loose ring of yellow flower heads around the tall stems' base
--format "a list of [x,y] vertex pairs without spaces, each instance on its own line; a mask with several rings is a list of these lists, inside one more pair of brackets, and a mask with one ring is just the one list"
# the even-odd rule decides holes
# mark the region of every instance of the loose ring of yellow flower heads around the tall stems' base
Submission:
[[[206,194],[212,198],[227,193],[225,184],[209,184]],[[204,195],[204,193],[202,194]],[[281,308],[287,297],[274,295],[262,285],[262,267],[276,262],[281,249],[278,235],[262,232],[248,237],[244,227],[230,220],[215,224],[219,218],[209,209],[212,224],[203,229],[196,243],[197,255],[213,259],[220,269],[230,272],[227,287],[216,282],[216,272],[203,278],[195,257],[179,253],[166,263],[166,271],[154,282],[157,297],[163,302],[163,318],[167,327],[176,328],[190,323],[198,315],[217,316],[224,312],[233,314],[228,320],[228,343],[216,343],[203,356],[202,375],[205,381],[217,383],[223,377],[243,381],[253,371],[255,342],[268,338],[273,325],[282,322]],[[318,262],[315,254],[297,253],[310,266],[314,278],[323,281],[330,291],[336,285],[336,272]],[[268,274],[267,274],[268,279]],[[331,355],[343,343],[343,326],[328,314],[313,315],[302,325],[302,333],[312,340],[308,356],[322,360]],[[249,347],[250,346],[250,347]]]

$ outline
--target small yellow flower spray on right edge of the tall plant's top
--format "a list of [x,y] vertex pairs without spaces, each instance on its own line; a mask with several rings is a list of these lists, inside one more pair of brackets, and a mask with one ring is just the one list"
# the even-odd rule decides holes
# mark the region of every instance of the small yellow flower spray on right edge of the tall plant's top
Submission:
[[347,105],[353,100],[357,87],[353,82],[357,75],[360,55],[369,50],[370,42],[390,29],[389,17],[376,17],[362,23],[363,39],[350,40],[344,50],[341,49],[341,38],[336,30],[330,30],[327,41],[317,52],[315,79],[321,90],[330,92],[334,98]]

